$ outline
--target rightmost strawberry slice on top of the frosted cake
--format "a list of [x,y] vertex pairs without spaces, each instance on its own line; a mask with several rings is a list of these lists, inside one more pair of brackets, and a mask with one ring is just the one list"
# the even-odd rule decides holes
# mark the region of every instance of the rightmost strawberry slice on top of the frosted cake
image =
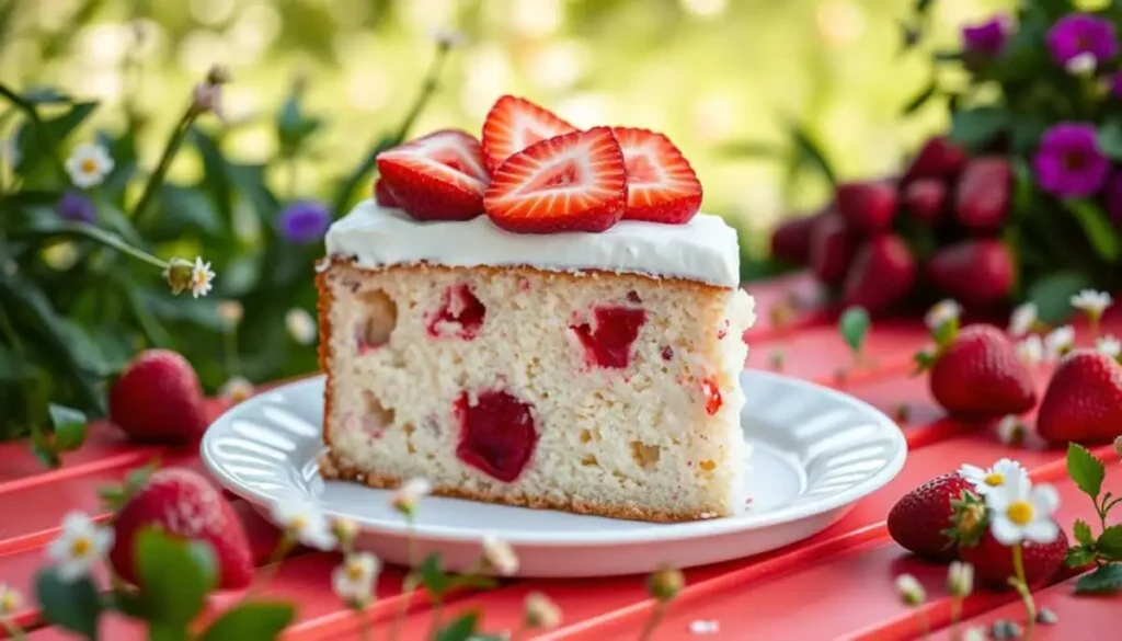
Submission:
[[662,134],[613,127],[627,165],[624,220],[681,225],[701,209],[701,183],[682,153]]

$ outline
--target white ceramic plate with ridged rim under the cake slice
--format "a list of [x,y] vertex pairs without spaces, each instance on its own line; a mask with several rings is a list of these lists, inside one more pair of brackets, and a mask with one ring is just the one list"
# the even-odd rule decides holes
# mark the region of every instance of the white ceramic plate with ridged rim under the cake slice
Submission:
[[[416,558],[438,551],[447,567],[465,569],[478,558],[481,538],[493,533],[515,548],[519,576],[611,576],[725,561],[820,532],[903,466],[908,448],[900,429],[862,401],[757,370],[746,370],[741,385],[747,396],[742,422],[753,447],[753,501],[744,515],[660,524],[426,497],[416,520]],[[203,461],[266,518],[275,501],[314,501],[329,515],[358,522],[360,547],[404,565],[407,528],[388,505],[390,493],[320,477],[322,412],[322,376],[266,392],[210,427]]]

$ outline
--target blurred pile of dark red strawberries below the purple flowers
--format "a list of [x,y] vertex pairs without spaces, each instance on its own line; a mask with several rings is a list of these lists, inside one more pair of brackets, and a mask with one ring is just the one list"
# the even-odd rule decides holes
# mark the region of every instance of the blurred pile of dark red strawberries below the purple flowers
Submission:
[[872,313],[917,289],[971,306],[993,304],[1009,294],[1015,273],[996,238],[1011,185],[1004,159],[969,158],[932,138],[901,176],[840,184],[822,211],[781,225],[772,255],[809,265],[840,289],[844,304]]

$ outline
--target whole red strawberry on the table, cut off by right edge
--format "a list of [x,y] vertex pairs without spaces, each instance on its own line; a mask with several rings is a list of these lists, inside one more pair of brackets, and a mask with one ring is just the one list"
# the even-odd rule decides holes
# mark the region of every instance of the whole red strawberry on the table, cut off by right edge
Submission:
[[1122,365],[1105,354],[1067,355],[1045,391],[1037,432],[1052,442],[1105,442],[1122,436]]

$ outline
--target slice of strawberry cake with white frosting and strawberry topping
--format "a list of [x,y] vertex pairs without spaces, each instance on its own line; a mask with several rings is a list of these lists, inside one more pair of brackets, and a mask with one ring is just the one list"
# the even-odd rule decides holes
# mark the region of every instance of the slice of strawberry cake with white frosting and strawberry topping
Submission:
[[378,156],[320,266],[329,479],[645,521],[736,514],[754,322],[664,136],[505,97]]

